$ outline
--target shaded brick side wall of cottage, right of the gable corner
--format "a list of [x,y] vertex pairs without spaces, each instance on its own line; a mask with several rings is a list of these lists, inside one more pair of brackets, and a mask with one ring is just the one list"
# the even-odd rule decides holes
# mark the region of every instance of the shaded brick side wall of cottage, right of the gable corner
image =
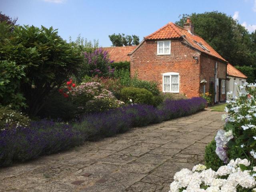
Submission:
[[[216,59],[206,54],[200,56],[200,80],[205,79],[207,81],[205,91],[209,92],[210,77],[214,78],[214,68]],[[217,64],[217,78],[226,79],[226,64],[218,61]],[[200,92],[202,92],[202,85],[200,86]],[[225,101],[226,94],[221,94],[220,101]]]

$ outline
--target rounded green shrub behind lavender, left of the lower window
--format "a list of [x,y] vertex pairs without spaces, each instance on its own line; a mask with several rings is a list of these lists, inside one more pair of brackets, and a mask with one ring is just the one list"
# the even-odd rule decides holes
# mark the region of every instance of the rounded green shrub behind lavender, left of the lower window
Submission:
[[125,103],[129,103],[130,99],[132,103],[141,103],[141,104],[154,104],[153,94],[143,88],[135,87],[126,87],[121,90],[121,100]]

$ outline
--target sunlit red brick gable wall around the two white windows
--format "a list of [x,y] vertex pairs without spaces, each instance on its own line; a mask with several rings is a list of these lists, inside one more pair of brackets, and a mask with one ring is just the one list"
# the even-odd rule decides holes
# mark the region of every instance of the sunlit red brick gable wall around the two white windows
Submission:
[[[193,58],[198,57],[198,62]],[[188,97],[198,96],[200,92],[200,53],[190,46],[171,40],[171,54],[157,55],[157,42],[144,41],[130,57],[131,76],[135,74],[142,80],[158,82],[162,90],[162,74],[180,74],[180,93]]]

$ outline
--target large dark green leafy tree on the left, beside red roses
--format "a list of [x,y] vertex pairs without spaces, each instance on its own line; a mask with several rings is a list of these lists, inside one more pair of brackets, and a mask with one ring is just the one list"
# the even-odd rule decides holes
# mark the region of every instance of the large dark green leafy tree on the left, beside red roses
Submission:
[[46,96],[78,73],[83,56],[52,27],[15,26],[11,34],[1,34],[0,61],[24,66],[20,93],[26,98],[28,114],[35,116]]

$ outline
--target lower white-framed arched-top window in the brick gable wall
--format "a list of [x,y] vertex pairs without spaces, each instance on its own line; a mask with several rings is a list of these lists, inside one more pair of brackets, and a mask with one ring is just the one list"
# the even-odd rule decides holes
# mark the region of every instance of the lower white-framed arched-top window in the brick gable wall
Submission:
[[179,73],[163,74],[163,92],[178,93],[180,92],[180,75]]

